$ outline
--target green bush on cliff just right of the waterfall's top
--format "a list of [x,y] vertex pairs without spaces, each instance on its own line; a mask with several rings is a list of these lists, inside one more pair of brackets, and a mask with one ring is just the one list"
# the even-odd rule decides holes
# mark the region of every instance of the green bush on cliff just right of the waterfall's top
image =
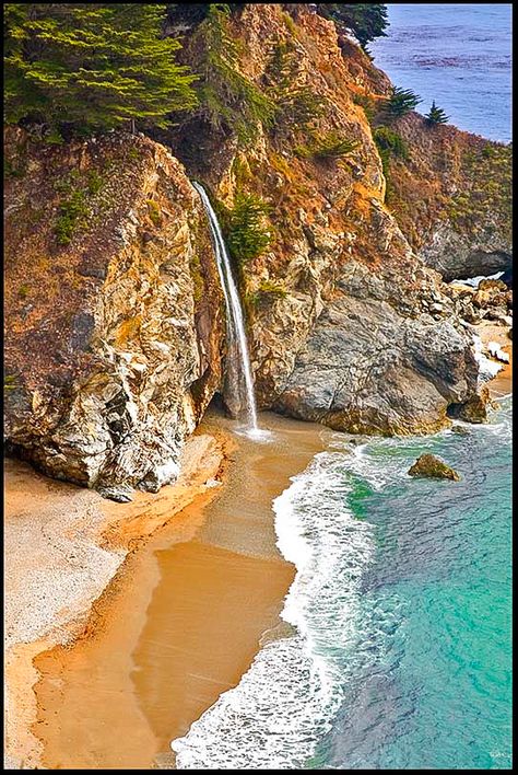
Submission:
[[237,194],[234,207],[215,203],[225,242],[237,265],[257,258],[271,243],[270,231],[264,218],[270,213],[270,205],[256,194]]

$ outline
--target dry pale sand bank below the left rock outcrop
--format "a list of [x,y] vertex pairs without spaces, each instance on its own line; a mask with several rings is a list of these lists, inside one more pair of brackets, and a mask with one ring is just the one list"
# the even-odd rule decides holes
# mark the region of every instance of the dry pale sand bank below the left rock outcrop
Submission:
[[[183,473],[160,494],[137,493],[113,504],[97,493],[55,482],[20,461],[4,465],[5,765],[34,768],[42,745],[31,732],[36,718],[33,660],[70,643],[92,623],[92,605],[128,552],[197,496],[213,493],[223,463],[222,435],[187,443]],[[90,618],[89,618],[90,617]]]

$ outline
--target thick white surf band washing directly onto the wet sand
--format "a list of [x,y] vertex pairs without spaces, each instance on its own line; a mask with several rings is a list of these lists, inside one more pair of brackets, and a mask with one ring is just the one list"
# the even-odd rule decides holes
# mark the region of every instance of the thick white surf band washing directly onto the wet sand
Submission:
[[178,770],[299,768],[342,701],[335,655],[361,632],[360,588],[373,528],[345,506],[344,455],[320,453],[275,499],[283,555],[297,567],[282,617],[292,637],[271,640],[235,689],[174,740]]

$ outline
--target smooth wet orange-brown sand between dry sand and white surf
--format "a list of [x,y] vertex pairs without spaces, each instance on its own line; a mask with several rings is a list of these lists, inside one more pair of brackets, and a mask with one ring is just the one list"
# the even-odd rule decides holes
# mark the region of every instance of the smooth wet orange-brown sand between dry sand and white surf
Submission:
[[271,501],[332,431],[270,414],[261,425],[274,440],[235,435],[228,485],[127,558],[83,637],[35,660],[45,767],[172,766],[170,740],[239,682],[279,625],[294,568],[276,548]]

